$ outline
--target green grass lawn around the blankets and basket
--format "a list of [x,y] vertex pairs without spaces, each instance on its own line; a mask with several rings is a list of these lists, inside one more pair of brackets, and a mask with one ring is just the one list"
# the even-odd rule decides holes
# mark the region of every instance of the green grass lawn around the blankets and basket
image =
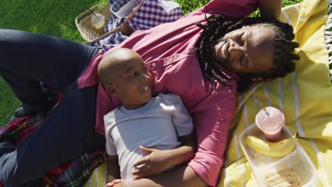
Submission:
[[[74,18],[96,4],[108,0],[0,0],[0,28],[26,30],[34,33],[55,35],[60,38],[84,42],[79,36]],[[189,13],[209,0],[175,0],[183,13]],[[236,1],[236,0],[234,0]],[[284,0],[283,5],[297,4],[302,0]],[[256,15],[258,12],[256,12]],[[20,102],[6,82],[0,78],[0,127],[5,125]]]

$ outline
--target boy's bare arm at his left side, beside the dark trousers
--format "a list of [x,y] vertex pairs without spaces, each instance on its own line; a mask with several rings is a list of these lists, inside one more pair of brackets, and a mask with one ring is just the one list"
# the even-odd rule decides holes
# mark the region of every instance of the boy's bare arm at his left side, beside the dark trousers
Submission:
[[118,155],[107,155],[106,183],[111,183],[115,179],[121,179]]

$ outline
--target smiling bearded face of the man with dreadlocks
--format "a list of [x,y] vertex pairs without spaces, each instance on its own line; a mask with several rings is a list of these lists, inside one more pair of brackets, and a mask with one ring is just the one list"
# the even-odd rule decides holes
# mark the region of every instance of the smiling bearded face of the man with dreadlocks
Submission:
[[214,46],[213,57],[231,72],[241,75],[272,68],[275,32],[266,26],[245,26],[227,33]]

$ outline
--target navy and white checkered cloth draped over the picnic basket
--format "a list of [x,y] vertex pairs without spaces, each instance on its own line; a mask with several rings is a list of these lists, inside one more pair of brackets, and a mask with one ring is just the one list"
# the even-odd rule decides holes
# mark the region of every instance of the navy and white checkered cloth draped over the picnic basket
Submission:
[[[119,7],[123,6],[130,0],[109,0],[110,4],[114,6],[114,10],[118,10]],[[138,4],[142,0],[136,0]],[[177,21],[177,19],[182,17],[182,11],[179,4],[174,1],[164,1],[164,0],[146,0],[143,6],[135,13],[135,16],[128,21],[129,26],[133,30],[147,30],[153,28],[161,23],[169,23]],[[126,17],[117,18],[113,14],[109,19],[109,22],[105,26],[105,33],[110,30],[121,26],[121,24],[126,21]],[[96,42],[94,45],[102,47],[104,51],[109,50],[111,47],[118,45],[128,38],[123,35],[120,31],[112,33],[107,38]]]

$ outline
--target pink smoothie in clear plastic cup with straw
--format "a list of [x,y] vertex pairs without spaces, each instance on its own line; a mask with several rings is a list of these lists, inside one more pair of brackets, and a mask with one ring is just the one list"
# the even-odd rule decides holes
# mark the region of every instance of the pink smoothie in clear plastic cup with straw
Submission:
[[267,141],[277,142],[281,139],[284,114],[279,109],[272,106],[265,107],[265,110],[262,109],[257,113],[255,122]]

